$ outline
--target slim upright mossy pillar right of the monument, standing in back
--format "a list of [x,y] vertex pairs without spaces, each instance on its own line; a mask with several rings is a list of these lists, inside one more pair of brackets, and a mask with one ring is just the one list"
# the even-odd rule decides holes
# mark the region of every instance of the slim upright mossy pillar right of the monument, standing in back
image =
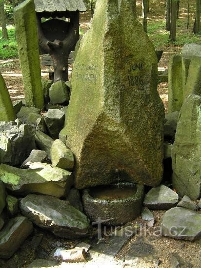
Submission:
[[168,113],[180,111],[183,103],[181,56],[174,55],[168,63]]

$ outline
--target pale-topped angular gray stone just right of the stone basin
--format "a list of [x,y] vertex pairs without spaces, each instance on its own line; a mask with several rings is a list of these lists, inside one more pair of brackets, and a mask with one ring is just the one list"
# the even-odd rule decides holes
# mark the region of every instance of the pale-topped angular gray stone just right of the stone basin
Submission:
[[151,210],[168,210],[176,206],[179,196],[165,185],[152,188],[145,196],[143,205]]

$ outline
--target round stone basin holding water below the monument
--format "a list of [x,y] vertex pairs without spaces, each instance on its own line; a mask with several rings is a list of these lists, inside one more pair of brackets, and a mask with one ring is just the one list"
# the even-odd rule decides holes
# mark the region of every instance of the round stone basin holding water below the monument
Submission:
[[84,211],[92,222],[119,226],[134,220],[141,212],[143,185],[120,182],[83,191]]

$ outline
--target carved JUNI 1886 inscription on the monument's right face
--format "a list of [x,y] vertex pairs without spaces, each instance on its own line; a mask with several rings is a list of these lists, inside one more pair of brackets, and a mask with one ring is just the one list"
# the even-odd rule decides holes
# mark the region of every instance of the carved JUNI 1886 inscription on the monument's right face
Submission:
[[148,76],[145,75],[143,62],[130,63],[128,67],[128,85],[138,90],[145,90],[148,84]]

